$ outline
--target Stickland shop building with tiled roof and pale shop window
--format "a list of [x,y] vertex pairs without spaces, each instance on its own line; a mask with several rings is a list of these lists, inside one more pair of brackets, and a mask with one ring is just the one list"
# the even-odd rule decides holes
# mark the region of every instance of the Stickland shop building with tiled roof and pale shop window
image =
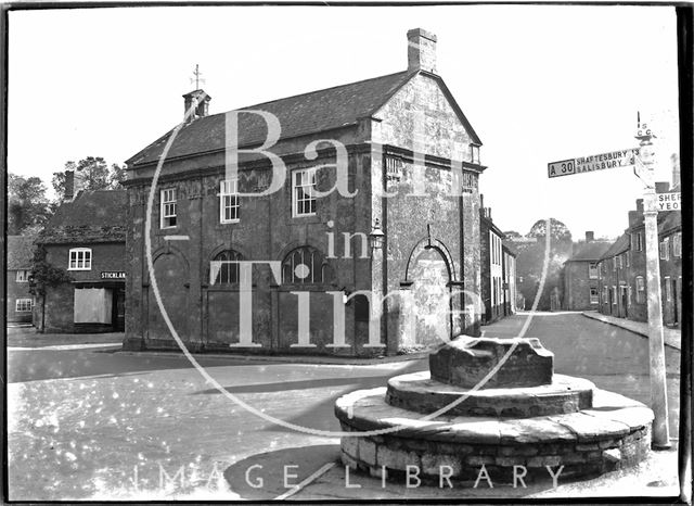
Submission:
[[125,190],[80,191],[56,210],[36,242],[72,281],[46,287],[34,314],[39,330],[124,330],[126,219]]

